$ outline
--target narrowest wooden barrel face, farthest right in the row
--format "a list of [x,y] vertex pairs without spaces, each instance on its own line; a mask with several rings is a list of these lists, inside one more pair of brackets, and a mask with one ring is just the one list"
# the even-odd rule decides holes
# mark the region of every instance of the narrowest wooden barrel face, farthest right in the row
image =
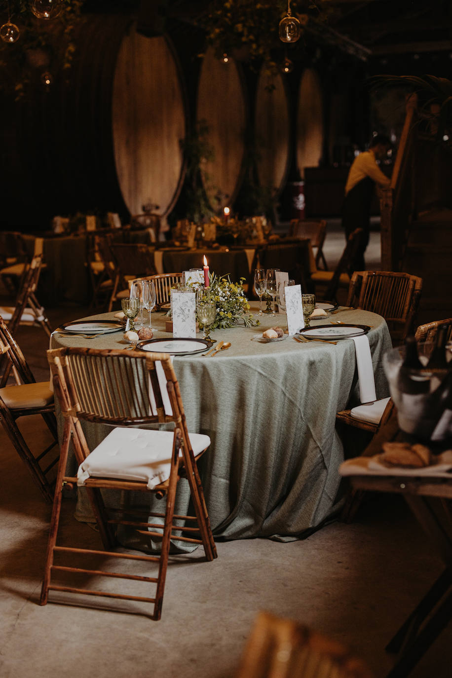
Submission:
[[323,100],[319,76],[306,68],[300,82],[297,109],[297,166],[318,167],[323,148]]

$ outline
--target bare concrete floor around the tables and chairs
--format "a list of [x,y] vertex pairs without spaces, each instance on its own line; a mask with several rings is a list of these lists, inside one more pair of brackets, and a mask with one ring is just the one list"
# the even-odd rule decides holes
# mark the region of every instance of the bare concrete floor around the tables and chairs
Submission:
[[[343,241],[337,237],[333,247],[329,237],[330,263]],[[54,326],[86,313],[70,306],[48,311]],[[35,376],[47,378],[43,332],[21,327],[18,340]],[[22,427],[39,446],[45,436],[39,418],[23,420]],[[2,678],[232,678],[258,610],[346,643],[382,677],[393,662],[384,646],[441,571],[403,500],[373,496],[352,525],[331,523],[303,541],[219,542],[212,563],[202,549],[173,558],[159,622],[138,603],[116,611],[105,609],[113,601],[99,605],[97,599],[83,600],[87,607],[40,607],[50,509],[3,432],[0,445]],[[73,502],[64,504],[62,539],[73,530],[76,539],[99,546],[96,532],[73,519]],[[411,676],[448,678],[450,643],[447,628]]]

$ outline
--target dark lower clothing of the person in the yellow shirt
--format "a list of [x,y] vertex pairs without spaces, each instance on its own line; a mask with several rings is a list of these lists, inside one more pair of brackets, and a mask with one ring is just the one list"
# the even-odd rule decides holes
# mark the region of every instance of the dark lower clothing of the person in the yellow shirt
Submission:
[[366,177],[358,182],[351,191],[348,191],[342,207],[342,227],[346,239],[355,228],[362,228],[363,235],[352,261],[354,271],[365,271],[364,253],[369,244],[369,230],[371,218],[371,201],[375,182]]

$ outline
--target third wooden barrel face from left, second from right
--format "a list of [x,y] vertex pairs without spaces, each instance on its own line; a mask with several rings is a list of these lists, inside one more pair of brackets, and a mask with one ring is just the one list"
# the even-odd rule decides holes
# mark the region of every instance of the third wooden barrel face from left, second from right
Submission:
[[255,104],[255,138],[258,149],[258,176],[262,186],[281,191],[289,163],[289,106],[281,75],[266,89],[268,78],[259,77]]

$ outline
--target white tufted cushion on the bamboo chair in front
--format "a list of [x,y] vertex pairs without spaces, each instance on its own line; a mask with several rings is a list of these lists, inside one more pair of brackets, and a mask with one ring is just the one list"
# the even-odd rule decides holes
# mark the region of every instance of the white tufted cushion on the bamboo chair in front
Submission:
[[[117,478],[144,481],[152,490],[169,478],[173,437],[172,431],[113,428],[80,464],[77,485],[84,485],[89,477]],[[196,456],[210,445],[210,438],[190,433],[190,442]]]

